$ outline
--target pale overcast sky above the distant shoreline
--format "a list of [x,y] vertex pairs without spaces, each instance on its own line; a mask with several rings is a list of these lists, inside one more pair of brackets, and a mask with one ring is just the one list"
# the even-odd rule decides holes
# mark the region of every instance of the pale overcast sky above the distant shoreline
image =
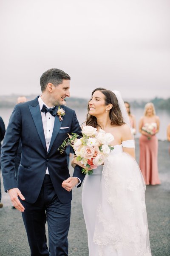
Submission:
[[40,94],[51,68],[71,96],[170,97],[169,0],[1,0],[0,95]]

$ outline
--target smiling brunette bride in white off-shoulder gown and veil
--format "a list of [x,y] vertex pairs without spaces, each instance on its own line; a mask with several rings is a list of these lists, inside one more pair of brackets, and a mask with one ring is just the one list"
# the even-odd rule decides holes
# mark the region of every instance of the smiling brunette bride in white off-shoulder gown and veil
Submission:
[[[145,183],[134,159],[134,140],[120,93],[95,89],[86,125],[114,136],[114,149],[104,165],[86,175],[83,184],[89,256],[151,256]],[[82,166],[76,158],[75,164]]]

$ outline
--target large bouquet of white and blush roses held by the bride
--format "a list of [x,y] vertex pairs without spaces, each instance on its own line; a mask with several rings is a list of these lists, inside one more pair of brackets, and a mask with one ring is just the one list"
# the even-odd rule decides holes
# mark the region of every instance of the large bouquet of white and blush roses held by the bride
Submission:
[[[93,169],[104,163],[111,150],[114,148],[109,145],[114,140],[111,133],[106,133],[102,129],[97,131],[92,126],[84,126],[82,128],[82,137],[78,134],[68,134],[68,138],[59,147],[60,153],[64,152],[67,145],[74,148],[76,160],[84,164],[85,168],[82,173],[92,174]],[[90,169],[90,170],[89,170]]]

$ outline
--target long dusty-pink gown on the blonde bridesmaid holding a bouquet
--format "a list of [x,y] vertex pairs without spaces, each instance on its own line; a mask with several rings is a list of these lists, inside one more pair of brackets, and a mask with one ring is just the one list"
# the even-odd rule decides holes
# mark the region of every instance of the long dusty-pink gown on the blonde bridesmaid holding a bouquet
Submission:
[[146,185],[161,184],[158,175],[158,139],[153,135],[150,140],[147,136],[139,138],[140,160],[139,167]]

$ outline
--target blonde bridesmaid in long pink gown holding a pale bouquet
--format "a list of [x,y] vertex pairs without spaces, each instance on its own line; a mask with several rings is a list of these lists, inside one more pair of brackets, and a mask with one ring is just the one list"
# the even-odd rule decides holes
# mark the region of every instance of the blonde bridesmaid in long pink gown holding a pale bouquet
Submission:
[[156,116],[153,103],[149,102],[144,107],[144,116],[139,122],[140,160],[139,167],[146,185],[159,185],[158,175],[158,139],[159,117]]

